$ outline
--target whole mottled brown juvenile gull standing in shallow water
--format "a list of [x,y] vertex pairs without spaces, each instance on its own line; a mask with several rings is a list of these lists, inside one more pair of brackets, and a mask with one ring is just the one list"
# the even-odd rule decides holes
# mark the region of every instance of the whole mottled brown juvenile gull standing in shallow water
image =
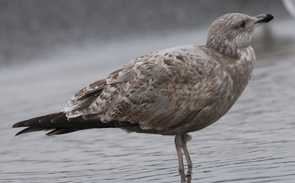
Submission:
[[209,28],[206,45],[185,45],[138,57],[78,91],[62,110],[14,124],[16,135],[52,130],[46,135],[91,128],[175,135],[179,169],[182,150],[192,167],[189,132],[221,118],[237,101],[252,74],[253,31],[274,18],[226,14]]

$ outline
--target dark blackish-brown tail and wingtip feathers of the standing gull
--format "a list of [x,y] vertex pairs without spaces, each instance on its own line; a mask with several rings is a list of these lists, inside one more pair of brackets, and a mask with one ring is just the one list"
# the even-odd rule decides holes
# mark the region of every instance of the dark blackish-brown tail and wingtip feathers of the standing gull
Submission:
[[15,136],[40,130],[52,130],[46,134],[50,136],[92,128],[119,128],[139,126],[138,124],[133,124],[127,121],[111,121],[108,123],[102,123],[99,119],[84,119],[82,116],[76,118],[67,118],[65,115],[66,114],[63,112],[47,114],[45,116],[35,117],[18,122],[14,124],[12,128],[27,127],[26,129],[18,132]]

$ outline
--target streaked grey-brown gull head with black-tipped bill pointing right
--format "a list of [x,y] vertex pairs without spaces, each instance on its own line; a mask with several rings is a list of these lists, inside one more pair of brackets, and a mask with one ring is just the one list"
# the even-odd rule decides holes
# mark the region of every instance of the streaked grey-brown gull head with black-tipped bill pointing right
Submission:
[[271,14],[248,16],[239,13],[225,14],[209,28],[206,46],[230,57],[237,57],[239,50],[248,48],[253,31],[274,18]]

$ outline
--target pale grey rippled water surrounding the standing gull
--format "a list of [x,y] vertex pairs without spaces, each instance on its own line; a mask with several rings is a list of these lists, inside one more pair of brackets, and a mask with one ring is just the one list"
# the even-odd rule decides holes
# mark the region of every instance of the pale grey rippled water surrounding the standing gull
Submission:
[[257,62],[240,99],[219,121],[191,133],[194,166],[186,177],[172,136],[90,129],[14,137],[21,129],[11,126],[60,111],[78,90],[137,56],[204,44],[206,30],[61,49],[46,61],[1,68],[0,182],[294,182],[295,26],[271,23],[253,36]]

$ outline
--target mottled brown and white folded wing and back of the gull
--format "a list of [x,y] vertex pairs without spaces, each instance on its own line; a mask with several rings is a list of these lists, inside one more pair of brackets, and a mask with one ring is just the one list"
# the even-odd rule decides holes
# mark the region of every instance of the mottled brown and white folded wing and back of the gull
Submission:
[[210,49],[187,45],[138,57],[79,91],[63,111],[70,119],[128,121],[142,129],[179,126],[214,100],[210,76],[218,63],[212,58],[220,58],[215,51],[209,59]]

